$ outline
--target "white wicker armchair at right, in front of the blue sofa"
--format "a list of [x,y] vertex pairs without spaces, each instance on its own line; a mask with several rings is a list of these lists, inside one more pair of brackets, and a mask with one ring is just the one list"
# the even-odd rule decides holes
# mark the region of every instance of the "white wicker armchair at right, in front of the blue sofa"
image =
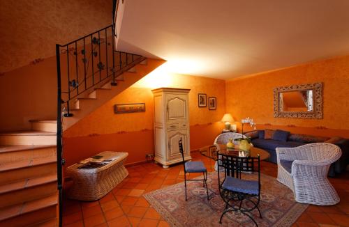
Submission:
[[299,203],[339,203],[339,196],[327,179],[327,173],[329,166],[341,157],[341,153],[341,149],[331,143],[276,148],[278,180],[292,189]]

